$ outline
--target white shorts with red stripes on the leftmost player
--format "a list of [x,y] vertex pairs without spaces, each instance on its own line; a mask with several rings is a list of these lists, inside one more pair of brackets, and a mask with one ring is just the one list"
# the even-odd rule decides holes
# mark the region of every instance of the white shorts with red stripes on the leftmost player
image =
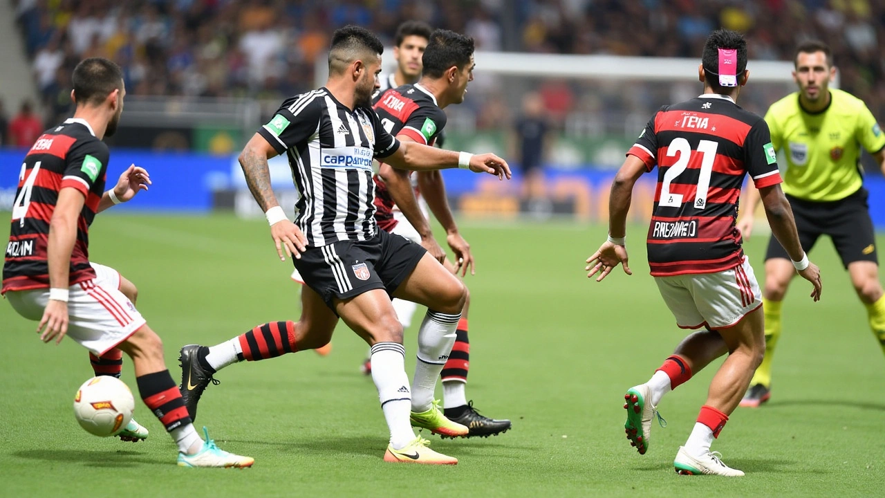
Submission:
[[[96,278],[70,287],[67,302],[67,336],[101,356],[144,325],[142,314],[119,292],[117,270],[92,263]],[[6,292],[15,311],[39,321],[50,299],[49,289]]]

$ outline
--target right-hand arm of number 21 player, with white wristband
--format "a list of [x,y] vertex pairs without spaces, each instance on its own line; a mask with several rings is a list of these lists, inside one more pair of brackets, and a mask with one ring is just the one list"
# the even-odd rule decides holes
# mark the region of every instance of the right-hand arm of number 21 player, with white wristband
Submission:
[[777,183],[769,187],[759,189],[762,205],[766,208],[768,224],[772,227],[772,234],[789,254],[793,266],[805,280],[814,285],[812,299],[820,300],[820,268],[808,261],[808,254],[802,250],[799,241],[799,233],[796,230],[796,220],[793,218],[793,210],[789,201],[783,195],[781,184]]

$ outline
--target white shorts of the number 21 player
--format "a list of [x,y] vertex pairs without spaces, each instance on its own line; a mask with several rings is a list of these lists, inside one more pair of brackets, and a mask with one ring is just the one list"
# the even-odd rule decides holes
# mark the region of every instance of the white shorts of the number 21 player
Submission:
[[724,329],[762,306],[750,261],[718,273],[656,276],[666,306],[681,329]]

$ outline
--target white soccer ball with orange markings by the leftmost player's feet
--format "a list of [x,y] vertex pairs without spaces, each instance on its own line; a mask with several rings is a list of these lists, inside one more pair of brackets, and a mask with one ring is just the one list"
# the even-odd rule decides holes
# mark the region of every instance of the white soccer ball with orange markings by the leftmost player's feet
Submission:
[[105,438],[123,430],[132,419],[135,399],[117,377],[92,377],[73,398],[73,416],[86,432]]

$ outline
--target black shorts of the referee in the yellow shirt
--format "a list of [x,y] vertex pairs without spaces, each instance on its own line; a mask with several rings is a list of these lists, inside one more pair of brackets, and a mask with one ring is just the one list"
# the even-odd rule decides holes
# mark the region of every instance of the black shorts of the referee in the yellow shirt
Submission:
[[[820,202],[787,196],[796,217],[799,240],[805,253],[812,250],[821,235],[833,239],[835,250],[848,268],[854,261],[873,261],[876,256],[875,231],[866,202],[869,192],[861,188],[850,196],[833,201]],[[789,254],[774,236],[768,241],[766,260],[786,258]]]

